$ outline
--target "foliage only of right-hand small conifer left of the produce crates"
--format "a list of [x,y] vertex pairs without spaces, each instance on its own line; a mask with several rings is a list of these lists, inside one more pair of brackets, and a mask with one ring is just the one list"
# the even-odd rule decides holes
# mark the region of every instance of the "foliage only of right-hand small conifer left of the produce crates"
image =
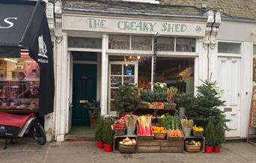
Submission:
[[104,144],[113,144],[114,131],[112,130],[113,120],[111,117],[107,117],[104,121],[103,127],[103,142]]

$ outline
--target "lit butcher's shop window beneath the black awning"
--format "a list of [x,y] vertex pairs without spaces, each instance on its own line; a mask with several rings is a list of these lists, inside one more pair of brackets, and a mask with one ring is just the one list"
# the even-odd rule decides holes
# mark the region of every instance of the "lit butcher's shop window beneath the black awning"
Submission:
[[39,108],[40,69],[22,52],[22,58],[0,58],[0,109]]

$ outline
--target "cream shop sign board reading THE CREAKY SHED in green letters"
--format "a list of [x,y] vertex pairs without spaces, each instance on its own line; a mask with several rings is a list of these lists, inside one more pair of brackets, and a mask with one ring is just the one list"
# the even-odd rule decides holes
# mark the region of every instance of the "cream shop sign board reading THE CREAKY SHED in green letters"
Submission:
[[155,34],[158,32],[160,35],[203,37],[205,25],[205,22],[64,14],[62,28],[64,30],[127,34]]

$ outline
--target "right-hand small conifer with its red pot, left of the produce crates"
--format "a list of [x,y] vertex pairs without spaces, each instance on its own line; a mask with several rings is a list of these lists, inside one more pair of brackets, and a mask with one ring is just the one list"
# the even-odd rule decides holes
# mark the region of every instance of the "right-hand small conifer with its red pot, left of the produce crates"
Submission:
[[111,117],[106,118],[103,127],[104,150],[109,153],[113,150],[114,131],[112,129],[113,120]]

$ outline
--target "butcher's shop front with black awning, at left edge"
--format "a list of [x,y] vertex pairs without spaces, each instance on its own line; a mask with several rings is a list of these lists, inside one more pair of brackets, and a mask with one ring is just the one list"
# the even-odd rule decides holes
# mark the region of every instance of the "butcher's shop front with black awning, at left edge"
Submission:
[[0,111],[52,113],[55,82],[45,2],[1,1],[0,10]]

